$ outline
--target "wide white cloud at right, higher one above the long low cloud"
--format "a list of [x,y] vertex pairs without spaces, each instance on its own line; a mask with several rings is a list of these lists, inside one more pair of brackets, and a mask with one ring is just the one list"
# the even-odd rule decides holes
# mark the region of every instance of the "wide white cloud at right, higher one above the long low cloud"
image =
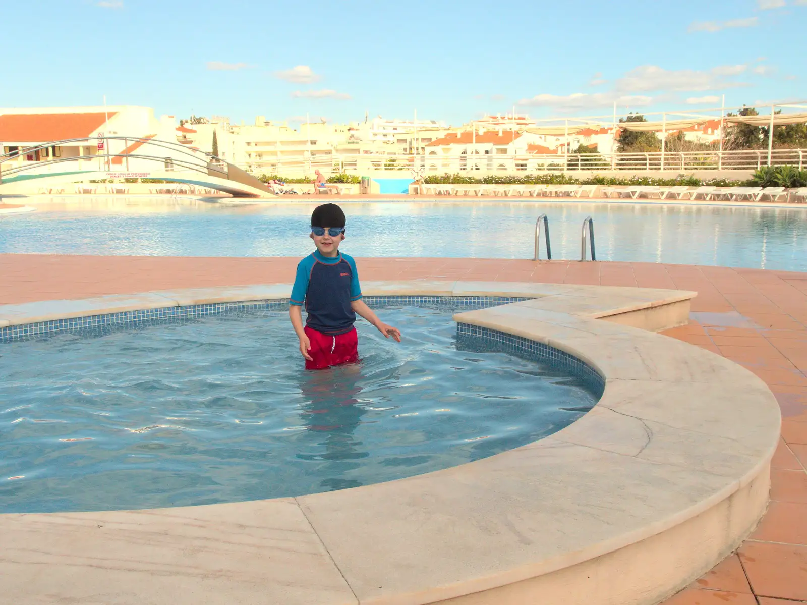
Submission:
[[720,88],[746,86],[732,82],[726,77],[742,74],[746,65],[720,65],[709,71],[696,69],[663,69],[658,65],[640,65],[631,69],[616,82],[621,92],[646,92],[650,90],[717,90]]

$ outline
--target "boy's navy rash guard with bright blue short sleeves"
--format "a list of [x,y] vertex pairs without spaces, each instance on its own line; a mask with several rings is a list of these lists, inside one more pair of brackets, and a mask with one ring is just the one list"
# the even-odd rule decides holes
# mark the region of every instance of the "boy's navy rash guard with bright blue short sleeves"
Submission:
[[350,303],[362,298],[356,263],[347,254],[328,258],[315,250],[297,265],[291,305],[305,303],[306,326],[323,334],[345,334],[353,329],[356,313]]

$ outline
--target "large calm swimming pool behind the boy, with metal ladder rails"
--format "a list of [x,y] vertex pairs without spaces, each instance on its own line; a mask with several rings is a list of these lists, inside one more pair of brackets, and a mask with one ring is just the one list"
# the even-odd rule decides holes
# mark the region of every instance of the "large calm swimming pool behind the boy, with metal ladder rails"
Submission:
[[[0,217],[0,253],[303,256],[312,203],[144,198],[31,200]],[[591,215],[600,260],[807,271],[805,208],[604,202],[341,203],[357,257],[532,258],[550,217],[554,258],[579,258]],[[543,254],[543,253],[541,253]]]

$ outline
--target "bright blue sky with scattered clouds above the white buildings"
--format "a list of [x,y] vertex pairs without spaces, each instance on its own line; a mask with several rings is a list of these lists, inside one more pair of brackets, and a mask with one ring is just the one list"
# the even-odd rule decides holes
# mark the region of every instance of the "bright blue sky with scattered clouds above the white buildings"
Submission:
[[0,0],[0,107],[462,124],[807,101],[807,0]]

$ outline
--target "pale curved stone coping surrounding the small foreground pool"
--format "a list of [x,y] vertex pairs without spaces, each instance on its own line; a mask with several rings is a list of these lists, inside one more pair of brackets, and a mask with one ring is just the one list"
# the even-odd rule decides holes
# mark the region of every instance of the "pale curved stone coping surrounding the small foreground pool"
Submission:
[[[574,355],[604,376],[603,397],[546,439],[398,481],[211,506],[0,515],[0,589],[19,603],[102,595],[171,605],[649,604],[709,569],[763,514],[780,430],[767,386],[709,351],[624,325],[686,321],[692,292],[473,282],[364,290],[534,296],[455,319]],[[60,307],[61,317],[80,317],[288,291],[6,305],[0,318],[30,323],[60,317]]]

